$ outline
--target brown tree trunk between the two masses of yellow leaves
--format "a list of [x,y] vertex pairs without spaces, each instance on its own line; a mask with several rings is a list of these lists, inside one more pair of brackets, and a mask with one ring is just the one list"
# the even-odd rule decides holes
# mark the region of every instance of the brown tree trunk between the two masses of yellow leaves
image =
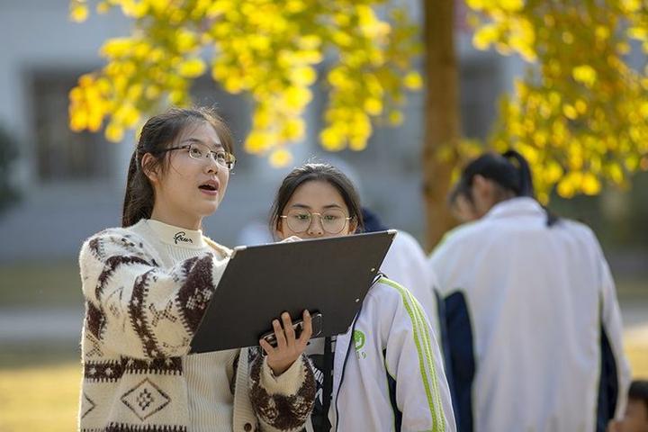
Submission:
[[426,60],[426,125],[423,145],[423,195],[427,213],[426,247],[430,250],[455,224],[446,205],[450,176],[457,162],[455,148],[460,137],[458,69],[455,52],[455,0],[423,0]]

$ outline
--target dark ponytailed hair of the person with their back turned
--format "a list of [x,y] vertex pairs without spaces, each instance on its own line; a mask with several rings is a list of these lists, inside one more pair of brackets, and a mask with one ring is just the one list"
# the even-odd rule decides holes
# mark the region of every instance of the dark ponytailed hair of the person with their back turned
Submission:
[[[482,175],[484,178],[495,182],[500,187],[502,194],[513,193],[514,196],[536,197],[534,190],[531,168],[527,159],[516,150],[508,150],[504,153],[484,153],[464,167],[459,182],[449,195],[449,201],[455,202],[460,195],[468,201],[473,199],[473,180],[475,175]],[[547,213],[547,226],[553,226],[558,217],[545,208]]]

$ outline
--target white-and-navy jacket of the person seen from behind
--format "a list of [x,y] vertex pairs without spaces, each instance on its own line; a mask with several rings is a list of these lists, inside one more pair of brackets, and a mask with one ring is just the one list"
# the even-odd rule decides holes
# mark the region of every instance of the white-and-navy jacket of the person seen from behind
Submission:
[[615,285],[581,223],[531,198],[495,205],[432,254],[460,431],[591,432],[622,416],[629,370]]

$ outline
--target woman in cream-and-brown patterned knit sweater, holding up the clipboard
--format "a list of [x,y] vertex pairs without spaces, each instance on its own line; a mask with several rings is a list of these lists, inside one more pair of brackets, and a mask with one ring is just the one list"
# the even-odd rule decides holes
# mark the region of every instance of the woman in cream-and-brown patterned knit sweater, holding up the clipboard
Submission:
[[[276,348],[188,356],[230,250],[202,235],[234,167],[232,139],[207,109],[144,125],[130,159],[122,228],[85,241],[81,430],[297,431],[315,397],[287,314]],[[269,323],[270,324],[270,323]],[[283,326],[282,326],[283,324]],[[285,330],[284,330],[285,329]]]

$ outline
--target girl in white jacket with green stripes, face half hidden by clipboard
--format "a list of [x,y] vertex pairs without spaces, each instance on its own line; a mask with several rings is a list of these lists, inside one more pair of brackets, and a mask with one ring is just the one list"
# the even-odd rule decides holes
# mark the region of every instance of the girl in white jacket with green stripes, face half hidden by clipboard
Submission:
[[[353,184],[323,164],[284,178],[270,223],[282,239],[349,236],[363,227]],[[437,342],[419,302],[401,285],[385,277],[374,282],[351,329],[313,339],[306,354],[318,386],[307,430],[455,430]]]

